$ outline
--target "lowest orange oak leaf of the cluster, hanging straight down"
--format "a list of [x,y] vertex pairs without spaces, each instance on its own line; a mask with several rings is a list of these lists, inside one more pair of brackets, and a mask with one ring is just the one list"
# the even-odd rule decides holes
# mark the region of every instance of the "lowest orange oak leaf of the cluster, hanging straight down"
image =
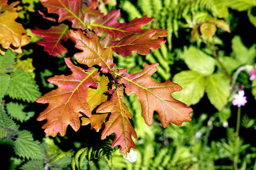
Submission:
[[109,120],[106,122],[106,127],[102,131],[101,139],[105,139],[110,134],[115,133],[115,139],[111,147],[114,148],[120,145],[120,152],[126,155],[127,152],[130,152],[131,148],[136,148],[131,136],[135,139],[138,138],[129,120],[132,118],[132,115],[123,103],[123,100],[123,90],[118,89],[110,101],[106,101],[97,108],[97,113],[111,112]]

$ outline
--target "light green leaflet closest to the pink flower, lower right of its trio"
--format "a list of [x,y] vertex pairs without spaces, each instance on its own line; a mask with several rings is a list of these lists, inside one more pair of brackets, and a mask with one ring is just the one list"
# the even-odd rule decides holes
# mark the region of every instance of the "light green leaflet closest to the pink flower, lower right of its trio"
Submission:
[[225,74],[212,74],[206,78],[206,92],[211,103],[221,110],[228,102],[230,85]]

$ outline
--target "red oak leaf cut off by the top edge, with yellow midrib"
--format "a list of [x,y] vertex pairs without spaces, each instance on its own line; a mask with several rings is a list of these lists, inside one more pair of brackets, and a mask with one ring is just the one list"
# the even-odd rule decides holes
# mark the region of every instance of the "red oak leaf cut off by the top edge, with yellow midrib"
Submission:
[[99,19],[103,16],[99,10],[93,10],[83,4],[83,0],[62,1],[45,0],[42,4],[48,9],[49,13],[59,15],[58,22],[69,20],[73,28],[86,29],[91,20]]

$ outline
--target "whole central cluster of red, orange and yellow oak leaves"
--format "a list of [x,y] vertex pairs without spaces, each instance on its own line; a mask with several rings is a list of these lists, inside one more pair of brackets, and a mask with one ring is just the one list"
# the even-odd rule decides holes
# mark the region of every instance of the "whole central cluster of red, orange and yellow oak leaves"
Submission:
[[[159,114],[163,127],[167,127],[170,122],[180,125],[191,120],[191,108],[171,95],[182,88],[171,81],[159,83],[150,78],[156,72],[157,63],[145,65],[143,71],[135,74],[128,74],[126,69],[118,69],[113,63],[113,52],[123,57],[132,52],[146,55],[150,49],[161,47],[165,42],[162,39],[166,36],[165,30],[141,29],[153,18],[145,15],[129,23],[120,23],[117,21],[119,10],[103,15],[96,9],[97,5],[91,5],[90,1],[83,4],[82,1],[47,0],[42,4],[49,13],[59,15],[58,23],[64,20],[72,22],[72,29],[60,24],[48,30],[33,30],[37,36],[44,37],[38,44],[44,45],[44,50],[51,55],[62,55],[67,53],[67,48],[61,41],[70,38],[75,47],[82,50],[74,55],[76,61],[90,67],[83,69],[65,58],[72,74],[49,78],[48,81],[57,85],[58,89],[36,99],[37,103],[49,103],[38,117],[38,120],[47,119],[43,126],[47,136],[56,136],[58,133],[65,135],[68,125],[78,131],[81,124],[91,124],[95,131],[99,131],[102,123],[106,122],[102,139],[115,133],[112,146],[120,145],[120,152],[126,154],[131,148],[136,148],[131,135],[135,139],[137,136],[129,120],[132,115],[123,103],[124,92],[136,95],[148,125],[152,124],[154,111]],[[102,36],[104,32],[106,34]],[[102,40],[99,40],[99,36]],[[95,65],[100,68],[93,67]],[[82,123],[79,117],[82,117]]]

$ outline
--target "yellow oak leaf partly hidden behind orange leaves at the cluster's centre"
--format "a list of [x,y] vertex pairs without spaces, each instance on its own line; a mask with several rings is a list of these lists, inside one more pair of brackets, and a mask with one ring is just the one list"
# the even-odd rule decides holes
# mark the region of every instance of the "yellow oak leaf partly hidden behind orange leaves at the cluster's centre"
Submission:
[[[95,109],[99,104],[104,103],[107,101],[108,96],[104,94],[104,92],[108,91],[108,77],[102,75],[99,77],[98,80],[98,88],[97,89],[88,89],[88,96],[87,96],[87,103],[89,104],[89,108],[92,111]],[[103,122],[106,121],[108,117],[108,113],[104,114],[95,114],[92,115],[90,118],[82,117],[82,125],[91,124],[91,129],[95,129],[96,132],[99,132],[101,129],[101,125]]]

